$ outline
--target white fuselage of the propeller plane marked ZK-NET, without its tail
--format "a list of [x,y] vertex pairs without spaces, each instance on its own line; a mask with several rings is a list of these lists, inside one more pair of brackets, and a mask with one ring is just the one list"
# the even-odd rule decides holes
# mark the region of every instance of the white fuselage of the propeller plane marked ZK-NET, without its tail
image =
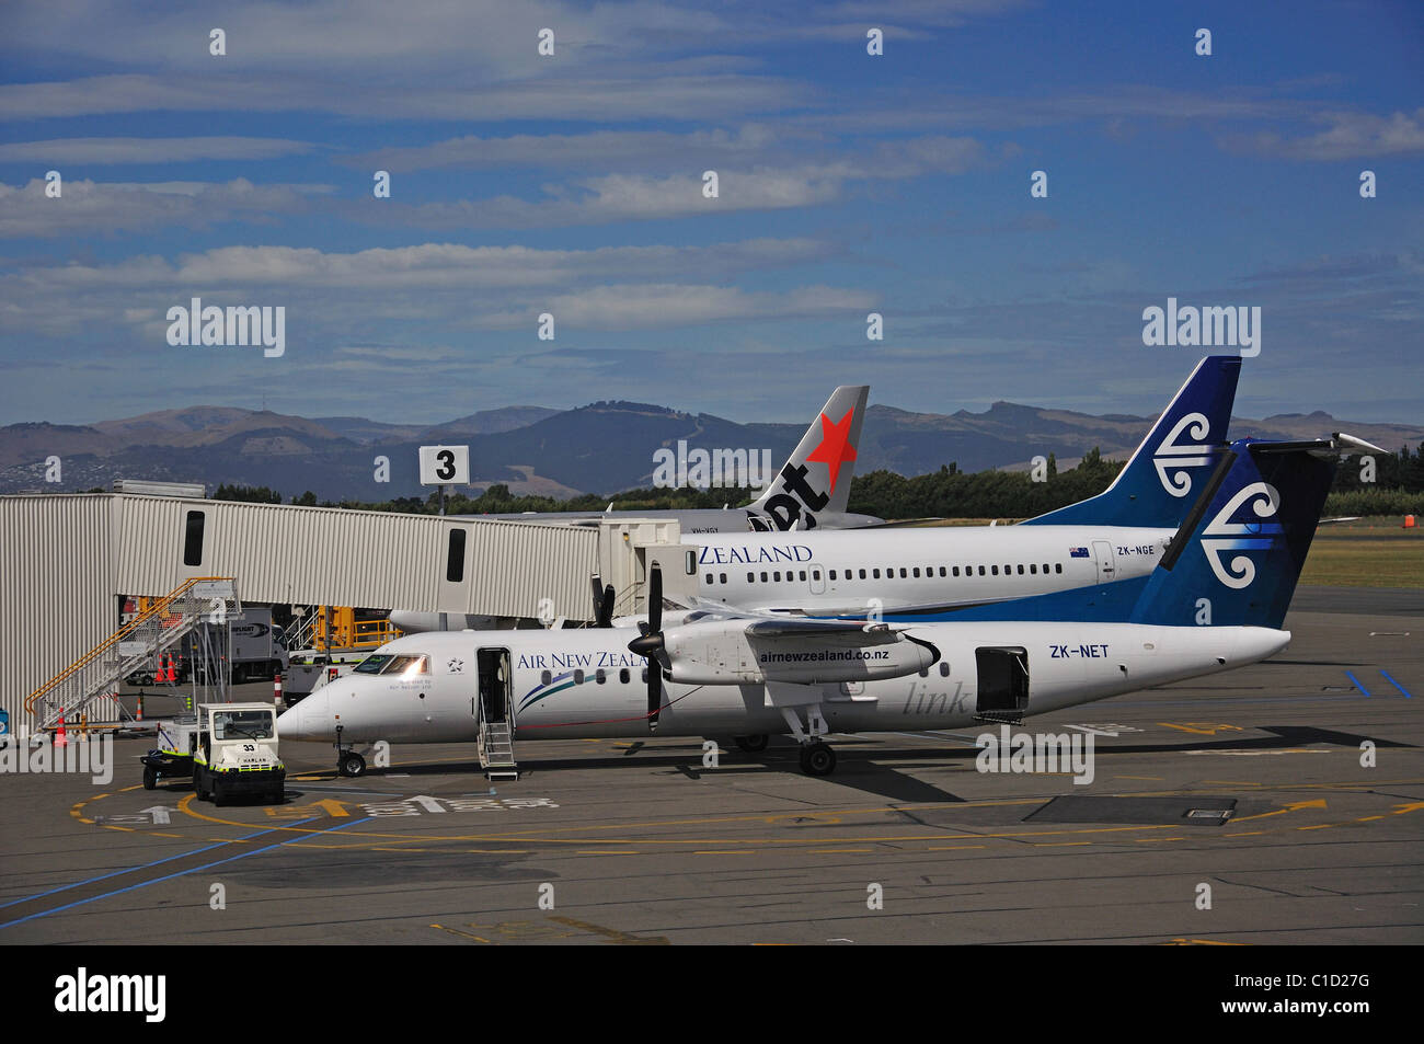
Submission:
[[[474,741],[481,649],[508,651],[506,702],[518,741],[646,738],[646,661],[627,648],[637,634],[602,628],[409,635],[380,652],[422,657],[419,669],[352,674],[318,689],[282,715],[282,739],[333,742],[340,725],[340,742],[350,745]],[[985,648],[1024,651],[1022,714],[1037,715],[1252,664],[1290,641],[1286,631],[1259,627],[1075,622],[926,624],[907,634],[931,644],[938,661],[899,678],[815,687],[832,731],[973,726],[981,714],[977,652]],[[664,682],[655,735],[786,731],[762,684]]]

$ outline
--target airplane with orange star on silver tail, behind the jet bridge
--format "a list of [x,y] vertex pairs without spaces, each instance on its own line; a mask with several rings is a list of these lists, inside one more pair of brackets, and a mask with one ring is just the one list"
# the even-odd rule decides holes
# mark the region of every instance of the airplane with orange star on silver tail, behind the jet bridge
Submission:
[[[776,473],[776,479],[768,483],[762,496],[746,507],[614,511],[609,504],[607,511],[525,511],[470,517],[561,526],[598,526],[601,521],[617,518],[672,518],[685,537],[706,533],[786,533],[880,526],[884,518],[846,510],[869,396],[869,385],[842,385],[832,392],[790,459]],[[459,631],[467,627],[488,628],[494,620],[474,614],[396,610],[390,614],[390,622],[407,634],[417,634]]]

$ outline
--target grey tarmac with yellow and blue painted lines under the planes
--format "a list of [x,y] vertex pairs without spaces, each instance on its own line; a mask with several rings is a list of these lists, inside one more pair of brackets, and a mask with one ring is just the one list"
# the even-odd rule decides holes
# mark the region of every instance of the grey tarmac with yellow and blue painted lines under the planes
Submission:
[[[281,806],[0,773],[0,943],[1420,943],[1424,593],[1302,588],[1272,661],[1030,718],[1088,785],[977,771],[975,735],[285,743]],[[241,687],[249,699],[271,687]],[[93,741],[90,741],[93,742]],[[1084,741],[1085,742],[1085,741]]]

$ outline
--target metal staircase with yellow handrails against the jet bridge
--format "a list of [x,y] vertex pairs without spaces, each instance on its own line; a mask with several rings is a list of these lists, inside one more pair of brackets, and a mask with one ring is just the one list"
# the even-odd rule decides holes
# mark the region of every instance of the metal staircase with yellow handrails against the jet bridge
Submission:
[[60,715],[77,719],[105,699],[134,671],[152,668],[199,622],[222,622],[242,612],[232,577],[195,577],[169,591],[112,635],[50,678],[24,701],[40,732]]

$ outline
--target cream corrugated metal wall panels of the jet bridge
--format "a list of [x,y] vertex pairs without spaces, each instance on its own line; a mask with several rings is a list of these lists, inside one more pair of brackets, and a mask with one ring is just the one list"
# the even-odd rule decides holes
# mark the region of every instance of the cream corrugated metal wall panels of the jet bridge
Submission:
[[[202,553],[184,564],[187,516]],[[447,578],[450,531],[464,570]],[[38,685],[118,627],[117,595],[235,577],[245,602],[537,617],[591,612],[598,531],[121,494],[0,497],[0,706],[11,726]]]

